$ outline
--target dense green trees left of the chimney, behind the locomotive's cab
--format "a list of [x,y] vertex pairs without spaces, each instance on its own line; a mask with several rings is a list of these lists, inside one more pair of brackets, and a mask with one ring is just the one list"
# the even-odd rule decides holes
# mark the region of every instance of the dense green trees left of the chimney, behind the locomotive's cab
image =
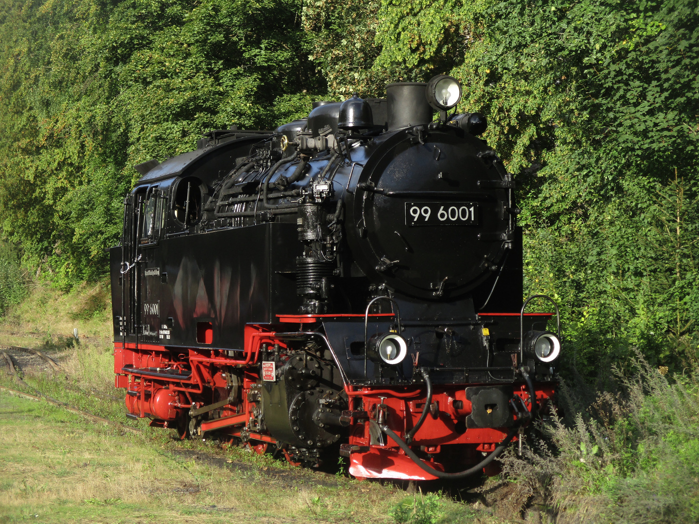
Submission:
[[67,289],[106,270],[131,166],[307,112],[301,1],[0,1],[0,210]]

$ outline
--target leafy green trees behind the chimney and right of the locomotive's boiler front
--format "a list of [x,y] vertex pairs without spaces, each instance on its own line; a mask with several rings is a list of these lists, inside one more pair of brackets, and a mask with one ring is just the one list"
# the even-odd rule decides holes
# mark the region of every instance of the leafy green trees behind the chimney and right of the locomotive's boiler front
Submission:
[[634,346],[670,369],[696,361],[696,0],[324,6],[305,17],[333,92],[450,73],[459,110],[487,115],[517,177],[526,291],[563,306],[565,358],[586,374]]

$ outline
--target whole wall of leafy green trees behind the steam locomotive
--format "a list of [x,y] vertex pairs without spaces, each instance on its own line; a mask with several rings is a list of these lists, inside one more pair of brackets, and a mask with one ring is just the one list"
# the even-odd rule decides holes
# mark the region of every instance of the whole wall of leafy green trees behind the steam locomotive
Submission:
[[135,163],[449,73],[579,367],[698,362],[696,0],[0,0],[0,24],[3,234],[57,282],[104,271]]

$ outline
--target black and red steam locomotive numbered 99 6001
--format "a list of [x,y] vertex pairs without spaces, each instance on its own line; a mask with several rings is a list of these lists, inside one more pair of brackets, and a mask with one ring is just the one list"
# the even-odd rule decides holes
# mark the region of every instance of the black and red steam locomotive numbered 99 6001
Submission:
[[398,82],[136,166],[110,249],[129,416],[358,478],[521,444],[554,407],[558,308],[525,312],[514,180],[459,99]]

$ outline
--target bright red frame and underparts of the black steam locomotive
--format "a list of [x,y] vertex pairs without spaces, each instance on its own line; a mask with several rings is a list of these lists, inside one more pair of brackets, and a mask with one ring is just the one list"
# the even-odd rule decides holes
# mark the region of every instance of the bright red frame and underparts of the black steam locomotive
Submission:
[[[498,313],[483,316],[519,315],[519,313]],[[526,316],[545,316],[548,313],[528,313]],[[322,316],[363,316],[363,315],[278,315],[280,323],[315,323]],[[392,316],[377,314],[374,316]],[[206,407],[205,395],[209,391],[226,391],[230,387],[226,380],[226,369],[233,367],[243,370],[240,402],[222,406],[219,416],[211,421],[202,421],[196,430],[198,437],[216,432],[224,439],[240,439],[250,442],[258,453],[265,453],[269,444],[277,441],[267,432],[255,431],[249,423],[254,419],[256,402],[250,401],[250,388],[260,383],[261,372],[259,355],[263,344],[279,344],[283,349],[287,343],[275,337],[270,326],[245,326],[245,349],[239,358],[229,355],[225,349],[189,348],[187,354],[180,353],[173,359],[173,352],[166,346],[157,344],[136,344],[115,342],[115,387],[127,389],[127,409],[134,418],[152,419],[150,425],[161,428],[178,428],[182,438],[187,435],[181,421],[186,419],[188,410]],[[188,369],[189,368],[189,369]],[[423,459],[429,466],[443,471],[444,463],[453,468],[454,463],[477,463],[478,456],[491,453],[507,435],[504,428],[470,428],[458,431],[456,425],[470,414],[470,402],[466,398],[466,385],[445,384],[437,386],[432,395],[431,416],[428,416],[411,446],[426,453]],[[205,393],[206,392],[206,393]],[[519,396],[522,405],[532,411],[531,395],[526,384],[513,386],[513,395]],[[535,395],[539,409],[552,405],[555,393],[554,384],[537,384]],[[359,387],[345,384],[345,394],[349,398],[349,408],[344,412],[350,418],[349,438],[340,446],[340,453],[349,457],[349,473],[358,479],[393,478],[412,480],[432,480],[437,476],[422,470],[414,460],[406,456],[398,443],[390,437],[382,444],[372,444],[370,435],[370,414],[377,407],[387,412],[387,425],[403,438],[420,418],[426,396],[424,388],[401,386]],[[516,442],[520,435],[513,437]],[[466,446],[464,446],[466,445]],[[452,447],[453,446],[453,447]],[[466,453],[464,453],[466,450]],[[299,461],[282,446],[285,458],[294,465]],[[492,467],[486,472],[495,472]]]

